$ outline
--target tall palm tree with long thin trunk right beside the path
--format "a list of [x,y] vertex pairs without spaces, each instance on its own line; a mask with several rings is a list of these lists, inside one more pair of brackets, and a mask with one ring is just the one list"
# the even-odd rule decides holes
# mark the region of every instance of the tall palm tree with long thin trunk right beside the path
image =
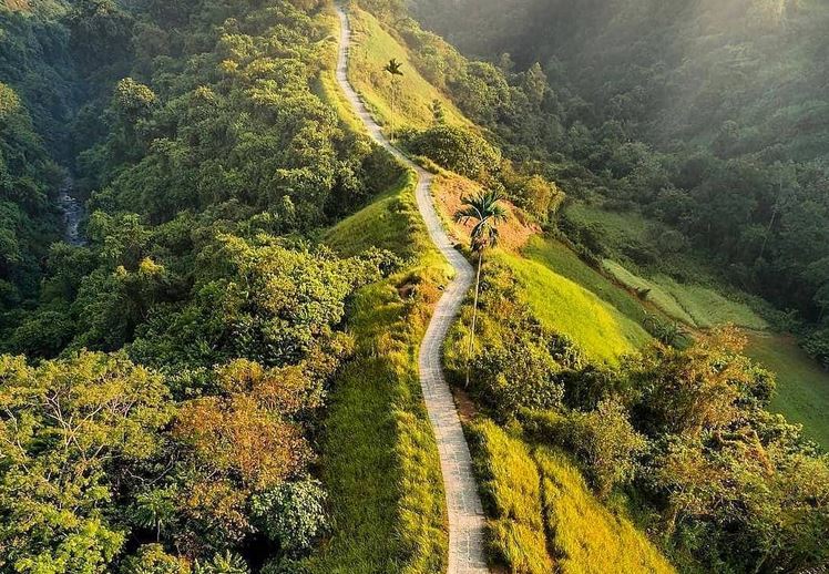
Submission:
[[487,247],[494,247],[498,244],[498,225],[506,221],[506,209],[500,203],[502,198],[503,196],[500,193],[493,191],[481,192],[472,197],[467,196],[461,202],[462,207],[454,214],[454,221],[458,223],[474,222],[470,236],[472,253],[478,255],[472,330],[469,334],[469,348],[467,349],[467,387],[469,387],[469,361],[472,357],[472,345],[478,322],[478,295],[481,287],[483,252]]

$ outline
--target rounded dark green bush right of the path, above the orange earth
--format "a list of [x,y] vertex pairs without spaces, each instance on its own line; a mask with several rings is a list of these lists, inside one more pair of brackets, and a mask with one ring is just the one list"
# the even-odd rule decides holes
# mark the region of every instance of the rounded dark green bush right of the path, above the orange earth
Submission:
[[484,180],[501,164],[501,152],[464,127],[434,125],[411,136],[408,147],[416,155],[471,180]]

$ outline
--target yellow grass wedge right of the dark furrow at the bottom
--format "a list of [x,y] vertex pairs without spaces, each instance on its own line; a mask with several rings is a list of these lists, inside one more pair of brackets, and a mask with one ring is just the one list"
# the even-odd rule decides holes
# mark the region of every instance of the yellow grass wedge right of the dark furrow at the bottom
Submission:
[[539,447],[544,519],[556,572],[632,574],[675,572],[659,550],[624,516],[611,513],[562,453]]

